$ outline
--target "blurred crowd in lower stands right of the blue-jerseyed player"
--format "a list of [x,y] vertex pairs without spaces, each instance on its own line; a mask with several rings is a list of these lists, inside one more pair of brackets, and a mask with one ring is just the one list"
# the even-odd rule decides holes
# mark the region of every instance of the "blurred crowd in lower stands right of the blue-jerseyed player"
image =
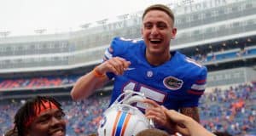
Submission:
[[256,135],[256,84],[215,88],[201,97],[201,124],[233,135]]

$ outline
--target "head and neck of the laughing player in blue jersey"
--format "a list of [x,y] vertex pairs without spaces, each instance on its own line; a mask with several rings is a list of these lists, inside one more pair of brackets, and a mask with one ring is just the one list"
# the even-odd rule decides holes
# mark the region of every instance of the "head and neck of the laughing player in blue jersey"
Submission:
[[143,13],[142,35],[146,43],[146,57],[170,57],[171,39],[176,36],[172,10],[162,4],[154,4]]

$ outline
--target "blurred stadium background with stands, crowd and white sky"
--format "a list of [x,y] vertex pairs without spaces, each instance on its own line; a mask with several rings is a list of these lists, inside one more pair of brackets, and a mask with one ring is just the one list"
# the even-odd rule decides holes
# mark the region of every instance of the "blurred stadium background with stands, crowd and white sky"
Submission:
[[201,124],[210,131],[256,135],[255,0],[0,3],[0,135],[14,126],[20,105],[35,95],[61,101],[67,135],[96,133],[113,82],[79,102],[69,95],[73,84],[102,62],[113,37],[141,38],[143,8],[153,3],[166,4],[176,16],[177,37],[170,49],[207,66]]

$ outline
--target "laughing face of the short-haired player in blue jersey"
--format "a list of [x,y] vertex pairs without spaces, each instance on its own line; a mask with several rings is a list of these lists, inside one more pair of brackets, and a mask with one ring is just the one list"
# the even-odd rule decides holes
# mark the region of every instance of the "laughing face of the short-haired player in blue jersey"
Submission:
[[176,31],[168,14],[160,10],[148,11],[144,16],[142,28],[147,54],[169,54],[170,42]]

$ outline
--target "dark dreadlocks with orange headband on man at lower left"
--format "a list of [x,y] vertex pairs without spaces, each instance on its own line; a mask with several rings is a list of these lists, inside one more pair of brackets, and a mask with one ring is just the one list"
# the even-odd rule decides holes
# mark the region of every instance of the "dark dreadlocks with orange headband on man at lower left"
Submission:
[[[51,108],[52,105],[55,105],[60,111],[63,112],[61,109],[61,104],[57,102],[53,97],[37,96],[33,99],[27,100],[26,103],[22,105],[15,114],[15,129],[18,131],[18,136],[24,136],[27,127],[25,125],[26,122],[28,122],[32,116],[37,116],[35,107],[43,106],[44,109],[47,109],[47,107],[44,105],[45,102],[49,102],[49,108]],[[40,112],[40,108],[38,108],[38,110]]]

